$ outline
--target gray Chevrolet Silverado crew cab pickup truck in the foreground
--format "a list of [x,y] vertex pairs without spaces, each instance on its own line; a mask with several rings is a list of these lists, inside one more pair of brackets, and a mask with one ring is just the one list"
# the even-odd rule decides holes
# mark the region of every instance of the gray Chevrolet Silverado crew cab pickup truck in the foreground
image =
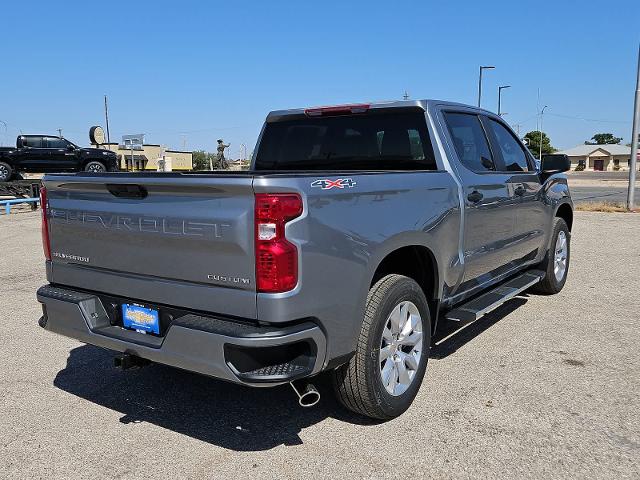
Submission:
[[47,330],[249,386],[327,371],[389,419],[443,321],[559,292],[573,205],[564,156],[435,100],[271,112],[251,169],[47,175]]

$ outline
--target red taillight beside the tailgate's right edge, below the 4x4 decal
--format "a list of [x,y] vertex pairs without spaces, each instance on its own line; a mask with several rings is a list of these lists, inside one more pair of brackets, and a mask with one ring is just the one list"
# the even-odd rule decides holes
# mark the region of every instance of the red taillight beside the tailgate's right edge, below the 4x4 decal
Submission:
[[257,193],[255,206],[256,288],[293,290],[298,283],[298,249],[285,237],[285,224],[302,215],[295,193]]

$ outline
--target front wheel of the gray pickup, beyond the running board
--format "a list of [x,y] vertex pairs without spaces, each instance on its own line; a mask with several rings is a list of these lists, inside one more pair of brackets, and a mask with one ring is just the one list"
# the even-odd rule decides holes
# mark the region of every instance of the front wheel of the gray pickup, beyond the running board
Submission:
[[569,260],[571,258],[571,233],[567,223],[556,217],[553,222],[551,243],[540,268],[544,270],[545,277],[540,283],[534,285],[531,291],[544,295],[558,293],[564,287],[569,273]]

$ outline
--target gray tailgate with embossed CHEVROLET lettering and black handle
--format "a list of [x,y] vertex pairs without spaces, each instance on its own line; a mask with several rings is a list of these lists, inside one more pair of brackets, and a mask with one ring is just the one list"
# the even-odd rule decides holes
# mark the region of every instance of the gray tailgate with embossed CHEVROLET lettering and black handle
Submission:
[[45,177],[52,283],[255,318],[249,175]]

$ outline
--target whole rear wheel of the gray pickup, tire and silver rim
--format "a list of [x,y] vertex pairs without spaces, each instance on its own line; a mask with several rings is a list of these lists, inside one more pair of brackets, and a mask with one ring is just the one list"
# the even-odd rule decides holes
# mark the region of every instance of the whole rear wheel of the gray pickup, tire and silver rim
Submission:
[[340,402],[361,415],[389,420],[411,406],[431,347],[431,316],[420,286],[387,275],[371,287],[355,355],[333,371]]

